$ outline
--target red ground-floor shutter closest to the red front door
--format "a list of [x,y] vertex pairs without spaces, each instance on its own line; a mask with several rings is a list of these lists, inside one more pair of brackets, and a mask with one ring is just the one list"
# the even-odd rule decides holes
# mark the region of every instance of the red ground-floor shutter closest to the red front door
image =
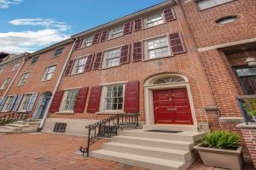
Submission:
[[125,112],[139,112],[139,82],[125,83]]

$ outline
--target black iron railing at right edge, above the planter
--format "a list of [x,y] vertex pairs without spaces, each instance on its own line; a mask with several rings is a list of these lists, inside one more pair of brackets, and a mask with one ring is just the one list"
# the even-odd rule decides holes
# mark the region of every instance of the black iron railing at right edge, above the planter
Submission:
[[240,107],[242,116],[244,118],[244,122],[246,122],[247,125],[249,124],[249,122],[252,122],[252,119],[248,115],[247,111],[244,109],[243,105],[244,105],[246,99],[253,99],[253,98],[256,98],[255,94],[253,94],[253,95],[241,95],[241,96],[236,97],[237,103]]

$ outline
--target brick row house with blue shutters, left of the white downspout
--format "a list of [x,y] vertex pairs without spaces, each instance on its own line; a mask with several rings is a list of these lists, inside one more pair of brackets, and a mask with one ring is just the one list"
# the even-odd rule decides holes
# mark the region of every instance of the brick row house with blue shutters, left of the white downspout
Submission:
[[[0,105],[1,112],[26,112],[32,118],[43,118],[72,46],[73,39],[67,39],[35,53],[27,54],[23,58],[24,63],[13,79],[9,91],[3,96]],[[15,74],[12,72],[17,70],[15,65],[19,64],[13,63],[7,67],[8,70],[6,69],[7,73],[4,77],[7,74]]]

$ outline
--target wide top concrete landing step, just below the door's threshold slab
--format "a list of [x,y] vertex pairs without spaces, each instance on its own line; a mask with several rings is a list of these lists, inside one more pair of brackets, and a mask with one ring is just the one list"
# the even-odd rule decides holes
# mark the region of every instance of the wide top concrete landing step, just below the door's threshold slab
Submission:
[[205,135],[205,133],[198,133],[198,132],[154,133],[154,132],[145,132],[145,131],[147,131],[147,129],[124,130],[124,131],[120,131],[119,135],[148,138],[148,139],[171,139],[171,140],[180,140],[180,141],[188,141],[188,142],[198,141],[202,139]]

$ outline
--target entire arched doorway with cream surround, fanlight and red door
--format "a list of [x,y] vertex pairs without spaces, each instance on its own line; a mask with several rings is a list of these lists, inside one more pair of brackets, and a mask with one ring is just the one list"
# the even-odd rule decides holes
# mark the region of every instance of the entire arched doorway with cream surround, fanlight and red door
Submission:
[[161,74],[144,83],[146,125],[195,125],[187,77]]

